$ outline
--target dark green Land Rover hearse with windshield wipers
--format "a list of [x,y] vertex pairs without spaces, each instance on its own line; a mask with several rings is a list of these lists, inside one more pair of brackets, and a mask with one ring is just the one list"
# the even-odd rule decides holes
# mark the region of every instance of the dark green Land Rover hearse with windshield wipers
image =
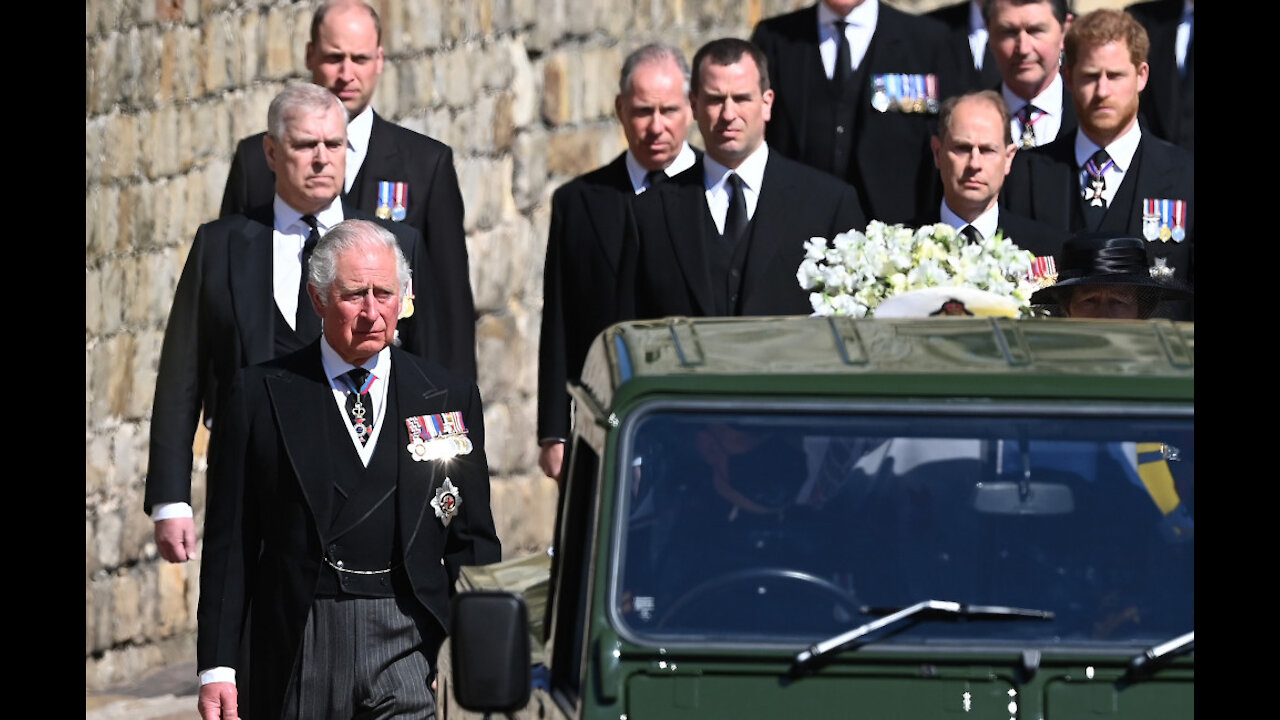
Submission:
[[571,388],[554,571],[536,606],[463,583],[439,715],[1192,717],[1193,341],[613,325]]

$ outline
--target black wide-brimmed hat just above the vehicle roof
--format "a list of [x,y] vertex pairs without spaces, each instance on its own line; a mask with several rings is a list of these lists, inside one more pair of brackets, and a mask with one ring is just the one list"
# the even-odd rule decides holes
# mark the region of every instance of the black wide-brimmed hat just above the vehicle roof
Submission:
[[1172,268],[1147,265],[1147,243],[1142,238],[1078,234],[1062,245],[1057,282],[1036,291],[1032,305],[1062,305],[1073,287],[1089,284],[1134,286],[1157,302],[1190,297],[1192,290],[1172,274]]

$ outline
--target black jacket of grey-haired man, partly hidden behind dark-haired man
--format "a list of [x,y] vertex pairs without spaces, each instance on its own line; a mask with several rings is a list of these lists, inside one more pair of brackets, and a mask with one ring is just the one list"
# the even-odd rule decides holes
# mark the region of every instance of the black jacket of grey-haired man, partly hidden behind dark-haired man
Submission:
[[[701,158],[700,150],[694,150]],[[538,347],[538,439],[568,437],[566,383],[596,334],[618,322],[618,273],[631,201],[626,152],[552,195]]]

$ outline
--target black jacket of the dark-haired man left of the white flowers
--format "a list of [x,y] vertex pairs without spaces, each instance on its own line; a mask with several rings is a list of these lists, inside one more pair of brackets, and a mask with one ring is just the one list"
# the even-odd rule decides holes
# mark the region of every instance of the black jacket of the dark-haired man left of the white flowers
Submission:
[[[622,311],[636,318],[714,314],[707,237],[714,228],[703,163],[632,202],[623,247]],[[742,315],[809,315],[809,291],[796,270],[810,237],[832,238],[867,227],[847,183],[769,150],[751,217],[741,284]]]

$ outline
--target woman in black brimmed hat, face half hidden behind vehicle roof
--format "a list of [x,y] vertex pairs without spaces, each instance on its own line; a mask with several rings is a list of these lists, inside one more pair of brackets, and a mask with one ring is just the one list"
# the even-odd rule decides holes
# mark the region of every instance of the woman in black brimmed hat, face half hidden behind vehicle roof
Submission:
[[1062,245],[1057,282],[1032,296],[1068,318],[1147,319],[1165,300],[1190,300],[1192,290],[1157,264],[1147,265],[1142,238],[1078,234]]

